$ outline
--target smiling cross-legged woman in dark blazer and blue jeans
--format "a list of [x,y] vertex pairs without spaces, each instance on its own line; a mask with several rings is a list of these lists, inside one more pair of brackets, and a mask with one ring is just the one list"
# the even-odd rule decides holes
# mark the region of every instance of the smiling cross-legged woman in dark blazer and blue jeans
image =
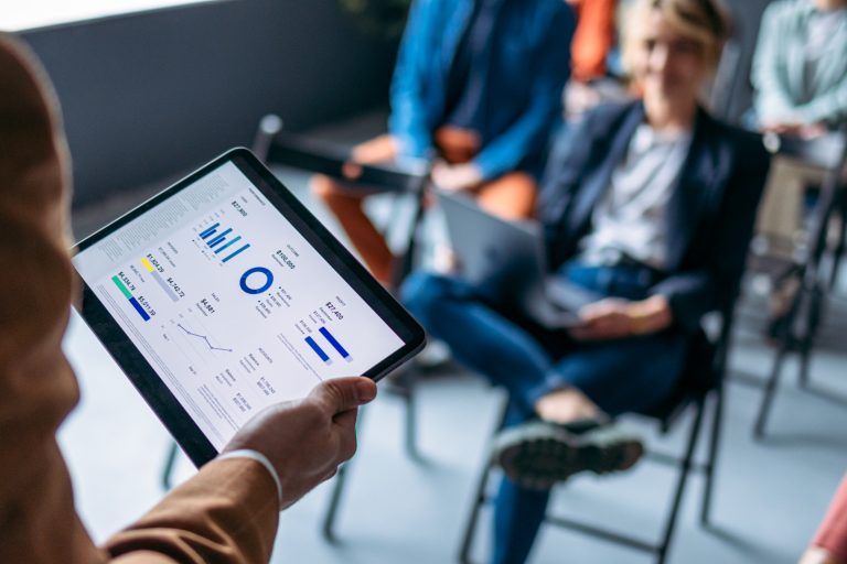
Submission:
[[458,278],[417,273],[403,288],[459,361],[508,392],[495,563],[525,561],[556,481],[635,463],[641,443],[607,415],[668,399],[701,317],[732,303],[744,269],[769,159],[698,104],[727,19],[712,0],[634,10],[624,56],[643,99],[589,112],[540,193],[548,263],[607,297],[578,328],[548,330]]

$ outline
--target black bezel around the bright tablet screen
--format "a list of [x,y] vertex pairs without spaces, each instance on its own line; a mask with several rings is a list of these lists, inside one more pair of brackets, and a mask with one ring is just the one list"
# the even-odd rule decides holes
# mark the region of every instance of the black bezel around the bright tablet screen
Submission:
[[[378,381],[424,348],[426,343],[424,329],[414,317],[397,303],[311,212],[289,192],[274,173],[249,150],[244,148],[233,149],[214,159],[185,178],[81,240],[72,249],[72,252],[81,252],[96,245],[226,162],[235,164],[247,176],[286,220],[319,251],[330,265],[341,274],[344,281],[365,300],[383,322],[403,340],[403,346],[398,350],[366,370],[362,376]],[[197,467],[217,456],[217,449],[206,438],[200,426],[197,426],[189,412],[159,377],[156,369],[147,361],[124,328],[109,314],[106,306],[78,272],[77,278],[82,286],[82,302],[77,306],[79,314],[176,443],[179,443]]]

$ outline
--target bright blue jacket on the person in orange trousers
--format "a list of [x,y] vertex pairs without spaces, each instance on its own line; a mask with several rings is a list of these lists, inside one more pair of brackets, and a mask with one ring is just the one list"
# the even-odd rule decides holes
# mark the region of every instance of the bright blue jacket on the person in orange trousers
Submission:
[[[388,129],[408,156],[432,155],[451,63],[473,0],[415,0],[392,84]],[[561,119],[576,26],[564,0],[506,0],[490,50],[487,132],[474,163],[490,180],[538,162]],[[532,166],[532,165],[530,165]],[[536,172],[536,171],[529,171]]]

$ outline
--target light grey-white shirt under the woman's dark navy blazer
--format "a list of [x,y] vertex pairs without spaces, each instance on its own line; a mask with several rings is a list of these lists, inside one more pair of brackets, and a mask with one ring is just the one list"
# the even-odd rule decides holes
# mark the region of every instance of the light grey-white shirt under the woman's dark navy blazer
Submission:
[[663,133],[642,123],[611,186],[594,208],[593,230],[580,241],[582,260],[615,262],[628,256],[663,269],[667,253],[667,204],[691,142],[690,131]]

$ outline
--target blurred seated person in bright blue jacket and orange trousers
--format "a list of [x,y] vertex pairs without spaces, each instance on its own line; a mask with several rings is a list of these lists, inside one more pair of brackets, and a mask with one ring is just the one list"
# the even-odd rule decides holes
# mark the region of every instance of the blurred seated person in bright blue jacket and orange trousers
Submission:
[[[469,191],[507,218],[529,217],[550,132],[561,115],[575,18],[562,0],[416,0],[390,91],[388,134],[354,148],[379,163],[435,160],[432,182]],[[315,176],[371,272],[392,282],[394,257],[362,207],[363,187]]]

